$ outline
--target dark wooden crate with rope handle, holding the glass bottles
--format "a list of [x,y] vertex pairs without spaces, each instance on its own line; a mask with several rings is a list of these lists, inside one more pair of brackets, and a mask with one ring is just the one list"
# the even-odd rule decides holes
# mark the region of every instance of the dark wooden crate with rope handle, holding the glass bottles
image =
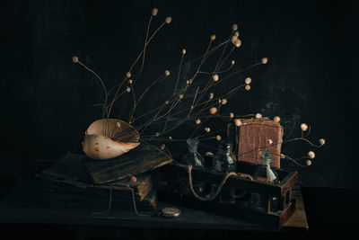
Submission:
[[[253,174],[258,164],[237,161],[237,172]],[[160,186],[159,200],[174,204],[181,204],[183,207],[199,209],[220,216],[248,220],[258,224],[281,227],[285,221],[293,215],[295,200],[292,199],[292,188],[297,182],[297,172],[287,172],[280,168],[273,168],[279,176],[280,183],[274,184],[259,180],[250,180],[247,177],[231,176],[224,184],[225,188],[233,188],[238,191],[250,191],[258,193],[266,198],[265,209],[256,209],[252,206],[245,206],[239,203],[228,203],[221,198],[211,201],[198,200],[192,192],[181,192],[173,189],[176,182],[188,180],[188,168],[179,164],[167,164],[162,166],[162,182],[168,182],[166,187]],[[194,182],[206,182],[218,185],[224,177],[224,173],[217,173],[205,168],[193,168],[192,179]],[[223,189],[224,189],[223,187]],[[276,198],[278,207],[272,206],[272,200]]]

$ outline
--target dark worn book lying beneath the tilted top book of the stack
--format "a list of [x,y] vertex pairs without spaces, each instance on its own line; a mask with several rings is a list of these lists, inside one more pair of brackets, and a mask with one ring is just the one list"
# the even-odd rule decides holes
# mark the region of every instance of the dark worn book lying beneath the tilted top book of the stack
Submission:
[[121,188],[121,186],[128,186],[134,189],[135,199],[141,201],[153,188],[154,173],[137,174],[136,182],[127,177],[105,184],[92,183],[83,167],[83,158],[84,155],[68,153],[56,164],[36,174],[36,176],[43,182],[47,191],[77,194],[88,198],[108,196],[112,189],[112,194],[117,199],[132,200],[132,192],[123,191]]

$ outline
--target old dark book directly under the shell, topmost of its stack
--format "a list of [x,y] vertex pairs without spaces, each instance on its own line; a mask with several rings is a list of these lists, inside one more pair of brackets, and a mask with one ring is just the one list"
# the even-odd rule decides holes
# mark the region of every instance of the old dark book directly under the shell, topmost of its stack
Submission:
[[146,173],[171,162],[170,152],[144,144],[109,160],[83,160],[87,173],[95,183],[113,182],[138,173]]

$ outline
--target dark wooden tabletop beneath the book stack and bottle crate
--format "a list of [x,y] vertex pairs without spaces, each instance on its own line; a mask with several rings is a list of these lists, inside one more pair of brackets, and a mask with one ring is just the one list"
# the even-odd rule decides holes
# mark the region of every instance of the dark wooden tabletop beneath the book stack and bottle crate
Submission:
[[[256,224],[238,219],[224,218],[194,209],[181,208],[180,218],[138,217],[132,209],[112,211],[109,215],[93,215],[91,210],[79,209],[45,209],[40,206],[22,207],[0,203],[0,222],[15,224],[57,224],[73,227],[136,227],[157,229],[217,229],[259,232],[308,232],[307,218],[303,206],[301,191],[294,191],[296,210],[293,216],[280,229],[260,227]],[[160,209],[171,204],[159,202]],[[173,205],[172,205],[173,207]],[[106,231],[104,231],[106,232]]]

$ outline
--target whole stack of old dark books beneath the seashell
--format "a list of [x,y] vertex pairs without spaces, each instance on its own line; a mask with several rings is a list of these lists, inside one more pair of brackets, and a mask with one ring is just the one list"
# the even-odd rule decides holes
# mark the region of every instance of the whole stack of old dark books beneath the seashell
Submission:
[[155,168],[171,157],[153,147],[136,147],[126,155],[92,160],[68,153],[37,174],[49,204],[60,209],[136,209],[154,213],[157,205]]

